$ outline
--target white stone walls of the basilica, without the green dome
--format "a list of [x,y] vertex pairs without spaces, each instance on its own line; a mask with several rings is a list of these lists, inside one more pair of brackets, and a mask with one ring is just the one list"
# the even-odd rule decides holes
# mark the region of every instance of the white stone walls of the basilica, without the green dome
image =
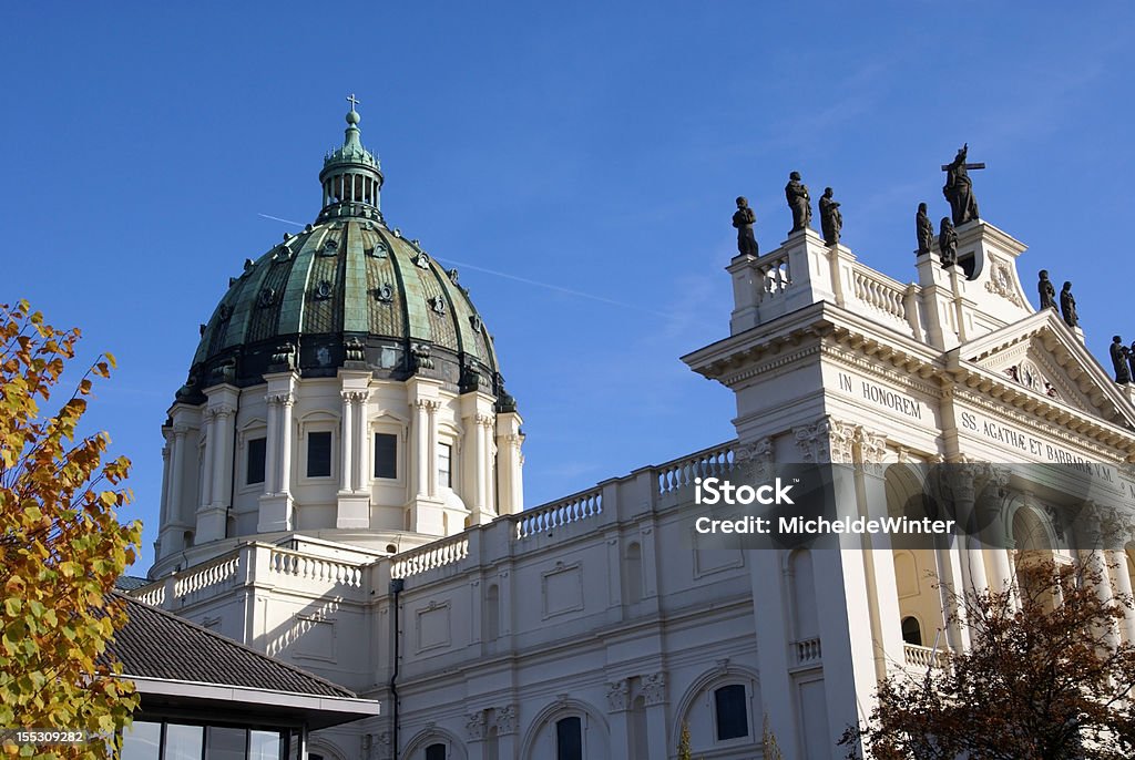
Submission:
[[[579,726],[589,760],[674,758],[683,723],[695,757],[760,758],[766,721],[785,758],[842,758],[835,743],[881,677],[967,645],[927,571],[957,589],[999,585],[1041,533],[1070,555],[1066,514],[1083,505],[987,463],[1083,463],[1094,507],[1135,500],[1129,391],[1054,312],[1034,312],[1017,275],[1024,245],[983,221],[958,235],[969,277],[926,255],[907,285],[810,230],[738,256],[731,336],[684,357],[737,394],[737,440],[523,512],[519,419],[494,417],[489,398],[343,372],[272,375],[241,396],[220,387],[204,409],[175,406],[161,580],[136,596],[380,699],[381,718],[317,737],[323,758],[423,760],[440,744],[445,758],[545,760],[556,726],[575,718],[564,725]],[[267,399],[281,403],[272,412]],[[369,439],[351,432],[387,423],[413,453],[389,493],[368,482],[358,463]],[[237,488],[225,539],[224,489],[241,459],[208,439],[230,425],[267,430],[268,462],[289,474],[262,492]],[[326,485],[287,466],[309,425],[343,437]],[[461,445],[460,507],[430,490],[440,438]],[[914,465],[968,464],[970,484],[997,481],[1015,543],[699,547],[689,484],[739,462],[847,464],[836,489],[869,516],[917,491]],[[183,551],[190,530],[197,540]],[[1135,555],[1092,556],[1111,564],[1101,593],[1129,592]],[[167,575],[175,561],[183,569]],[[1135,640],[1135,620],[1115,635]],[[732,719],[743,715],[745,733],[731,738],[726,702],[743,706]]]

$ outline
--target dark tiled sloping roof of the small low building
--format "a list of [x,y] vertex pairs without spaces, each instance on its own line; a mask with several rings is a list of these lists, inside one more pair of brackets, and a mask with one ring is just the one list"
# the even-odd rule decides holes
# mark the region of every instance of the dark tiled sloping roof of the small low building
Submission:
[[128,622],[115,634],[109,655],[127,677],[185,681],[354,699],[330,681],[280,662],[232,639],[121,593]]

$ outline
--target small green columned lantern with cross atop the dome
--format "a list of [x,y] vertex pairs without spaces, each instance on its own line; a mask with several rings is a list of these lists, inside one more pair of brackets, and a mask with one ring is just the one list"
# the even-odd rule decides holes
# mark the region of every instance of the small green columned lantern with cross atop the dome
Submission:
[[323,170],[319,172],[322,187],[322,211],[319,221],[336,217],[361,217],[382,221],[379,211],[379,195],[382,189],[382,171],[378,159],[362,145],[359,123],[362,117],[355,110],[359,100],[352,93],[347,96],[351,110],[346,115],[347,128],[343,134],[343,146],[323,157]]

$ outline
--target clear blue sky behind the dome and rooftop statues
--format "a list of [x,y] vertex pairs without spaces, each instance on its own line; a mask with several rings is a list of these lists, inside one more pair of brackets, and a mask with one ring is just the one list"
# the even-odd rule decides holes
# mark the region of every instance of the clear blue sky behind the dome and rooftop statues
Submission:
[[1073,280],[1096,356],[1135,338],[1130,3],[404,5],[3,10],[0,302],[117,354],[90,421],[134,462],[140,567],[197,324],[294,229],[266,216],[314,219],[350,92],[387,219],[496,335],[529,505],[732,436],[731,394],[678,357],[728,333],[732,199],[772,250],[793,169],[909,281],[915,208],[944,216],[968,141],[1026,290]]

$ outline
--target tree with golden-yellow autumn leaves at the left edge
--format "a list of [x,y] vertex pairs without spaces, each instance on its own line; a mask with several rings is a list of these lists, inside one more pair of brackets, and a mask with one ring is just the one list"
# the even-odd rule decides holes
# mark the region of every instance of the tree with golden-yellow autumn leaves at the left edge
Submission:
[[[103,464],[106,433],[76,439],[92,375],[109,377],[114,357],[100,356],[53,413],[43,408],[78,337],[25,302],[0,305],[0,726],[112,736],[137,700],[106,652],[125,623],[111,590],[134,559],[140,526],[115,516],[129,500],[129,461]],[[102,758],[107,746],[34,752]]]

